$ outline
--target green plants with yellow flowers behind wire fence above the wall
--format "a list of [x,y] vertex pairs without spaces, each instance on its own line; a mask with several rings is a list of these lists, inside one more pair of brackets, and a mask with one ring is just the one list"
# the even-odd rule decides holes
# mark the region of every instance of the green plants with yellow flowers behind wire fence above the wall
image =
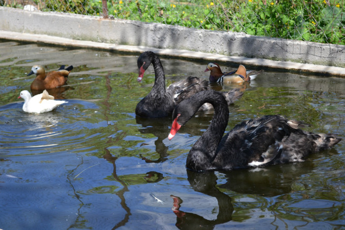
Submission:
[[345,0],[0,0],[0,4],[345,45]]

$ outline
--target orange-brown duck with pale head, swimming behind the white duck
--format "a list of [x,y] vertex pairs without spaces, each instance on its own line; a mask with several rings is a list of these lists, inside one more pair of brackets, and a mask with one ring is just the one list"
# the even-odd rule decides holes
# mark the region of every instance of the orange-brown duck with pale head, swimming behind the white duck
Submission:
[[58,71],[50,71],[45,73],[45,70],[42,66],[35,65],[31,69],[28,76],[35,74],[36,78],[31,83],[31,91],[33,90],[44,90],[52,89],[66,84],[67,77],[69,76],[70,71],[73,69],[73,66],[69,66],[65,69],[65,66],[61,66]]

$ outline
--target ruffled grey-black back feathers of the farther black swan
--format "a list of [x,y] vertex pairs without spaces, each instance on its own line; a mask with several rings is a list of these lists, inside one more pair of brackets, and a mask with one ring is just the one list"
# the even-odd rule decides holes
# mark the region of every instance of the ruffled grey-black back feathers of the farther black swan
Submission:
[[174,82],[168,87],[168,90],[173,91],[175,103],[180,103],[197,92],[207,89],[208,81],[205,79],[200,79],[199,77],[187,77],[184,80]]

